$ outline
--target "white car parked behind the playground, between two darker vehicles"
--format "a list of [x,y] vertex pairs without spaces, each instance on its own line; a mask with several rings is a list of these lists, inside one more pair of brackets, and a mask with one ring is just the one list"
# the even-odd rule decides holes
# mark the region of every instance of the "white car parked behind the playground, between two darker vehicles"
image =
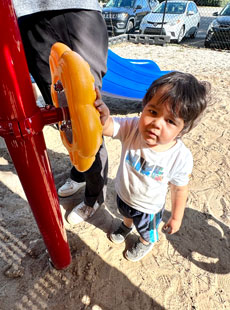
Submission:
[[140,24],[141,34],[165,35],[170,41],[195,38],[200,25],[200,13],[193,1],[161,2]]

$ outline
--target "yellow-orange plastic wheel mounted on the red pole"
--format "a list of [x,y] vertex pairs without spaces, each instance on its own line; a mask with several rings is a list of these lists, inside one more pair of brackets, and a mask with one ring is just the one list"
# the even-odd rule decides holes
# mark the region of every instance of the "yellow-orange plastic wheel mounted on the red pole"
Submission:
[[[65,90],[71,119],[71,138],[66,130],[60,130],[62,142],[69,152],[72,164],[78,171],[86,171],[93,164],[102,144],[100,115],[94,107],[94,77],[88,63],[59,42],[51,49],[50,69],[54,86],[51,87],[53,103],[59,107],[56,85],[59,90]],[[59,123],[59,128],[62,129],[62,122]]]

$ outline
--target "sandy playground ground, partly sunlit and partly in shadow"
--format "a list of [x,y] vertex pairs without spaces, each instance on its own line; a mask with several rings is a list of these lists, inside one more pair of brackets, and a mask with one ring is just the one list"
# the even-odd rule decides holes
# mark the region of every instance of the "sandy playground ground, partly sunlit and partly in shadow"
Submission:
[[[162,70],[190,72],[212,84],[212,106],[183,139],[195,162],[183,225],[172,236],[160,229],[160,241],[137,263],[123,256],[135,233],[126,244],[108,240],[107,233],[120,221],[114,192],[120,144],[106,138],[106,207],[75,228],[65,223],[72,263],[66,270],[52,269],[12,160],[1,147],[0,310],[229,310],[230,53],[127,43],[111,49],[122,57],[152,59]],[[137,115],[141,109],[139,102],[106,102],[113,115]],[[58,188],[71,164],[58,131],[46,126],[43,132]],[[83,190],[60,199],[66,214],[82,197]],[[163,222],[169,216],[168,199]]]

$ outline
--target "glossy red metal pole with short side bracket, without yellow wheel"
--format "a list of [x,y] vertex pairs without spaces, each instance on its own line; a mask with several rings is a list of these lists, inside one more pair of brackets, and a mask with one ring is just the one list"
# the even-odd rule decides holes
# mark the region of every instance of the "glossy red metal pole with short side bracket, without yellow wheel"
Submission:
[[60,120],[60,110],[47,111],[46,115],[36,106],[11,0],[0,1],[0,29],[0,135],[52,263],[63,269],[70,264],[71,255],[42,133],[49,120]]

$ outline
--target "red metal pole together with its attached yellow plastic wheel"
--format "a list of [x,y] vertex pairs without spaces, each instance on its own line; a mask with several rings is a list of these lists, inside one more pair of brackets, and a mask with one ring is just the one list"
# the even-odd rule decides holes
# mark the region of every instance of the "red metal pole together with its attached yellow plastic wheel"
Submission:
[[[102,143],[100,115],[94,107],[94,78],[80,55],[62,43],[54,44],[50,67],[56,108],[38,108],[10,0],[0,2],[0,26],[8,30],[0,43],[0,136],[5,139],[51,261],[55,268],[63,269],[70,264],[71,255],[42,130],[59,122],[73,165],[79,171],[88,170]],[[68,107],[59,106],[62,90]],[[71,127],[71,138],[64,130],[66,124]]]

